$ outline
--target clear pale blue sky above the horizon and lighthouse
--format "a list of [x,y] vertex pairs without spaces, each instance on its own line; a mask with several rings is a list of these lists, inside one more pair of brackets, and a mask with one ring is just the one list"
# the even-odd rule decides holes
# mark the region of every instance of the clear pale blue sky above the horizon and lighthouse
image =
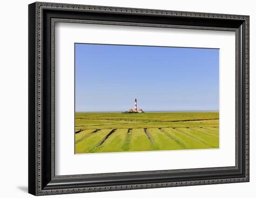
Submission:
[[218,111],[219,49],[75,44],[75,111]]

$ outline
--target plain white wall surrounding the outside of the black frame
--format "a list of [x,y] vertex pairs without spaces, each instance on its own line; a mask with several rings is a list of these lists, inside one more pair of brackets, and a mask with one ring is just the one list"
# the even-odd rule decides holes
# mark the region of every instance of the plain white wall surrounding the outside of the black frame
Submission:
[[[27,194],[27,4],[31,0],[5,0],[0,11],[0,196]],[[250,15],[250,182],[148,190],[111,191],[56,197],[255,197],[256,186],[256,12],[253,0],[48,0],[115,7]],[[53,197],[53,196],[49,196]]]

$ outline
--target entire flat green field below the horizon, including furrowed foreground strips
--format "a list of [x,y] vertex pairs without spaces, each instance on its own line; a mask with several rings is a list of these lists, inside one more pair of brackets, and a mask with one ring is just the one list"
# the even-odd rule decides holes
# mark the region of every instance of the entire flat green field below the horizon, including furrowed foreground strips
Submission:
[[219,148],[219,112],[75,113],[75,153]]

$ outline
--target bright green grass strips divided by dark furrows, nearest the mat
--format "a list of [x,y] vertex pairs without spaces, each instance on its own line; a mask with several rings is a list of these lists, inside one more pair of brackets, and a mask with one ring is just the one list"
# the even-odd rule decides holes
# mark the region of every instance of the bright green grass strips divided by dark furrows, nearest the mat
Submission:
[[75,134],[77,154],[207,148],[219,148],[218,127],[94,129]]

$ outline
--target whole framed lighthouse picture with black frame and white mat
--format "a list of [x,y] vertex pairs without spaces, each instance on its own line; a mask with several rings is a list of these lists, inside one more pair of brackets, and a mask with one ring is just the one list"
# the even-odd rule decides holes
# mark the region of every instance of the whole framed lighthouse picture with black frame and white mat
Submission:
[[249,16],[28,15],[29,193],[249,182]]

